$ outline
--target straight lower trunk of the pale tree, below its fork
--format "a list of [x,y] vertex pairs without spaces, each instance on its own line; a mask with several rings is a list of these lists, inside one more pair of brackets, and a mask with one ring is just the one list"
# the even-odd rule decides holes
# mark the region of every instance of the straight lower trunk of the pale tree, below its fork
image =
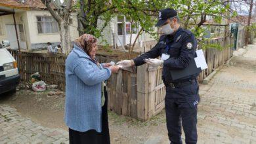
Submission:
[[60,43],[62,46],[62,53],[70,53],[71,47],[71,36],[70,36],[70,27],[65,22],[60,22],[58,25],[60,27]]

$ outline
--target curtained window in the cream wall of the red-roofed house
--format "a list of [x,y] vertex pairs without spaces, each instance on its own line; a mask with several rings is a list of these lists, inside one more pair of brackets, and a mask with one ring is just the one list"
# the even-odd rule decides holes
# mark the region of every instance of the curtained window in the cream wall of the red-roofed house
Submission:
[[58,33],[58,23],[53,16],[37,16],[38,33]]

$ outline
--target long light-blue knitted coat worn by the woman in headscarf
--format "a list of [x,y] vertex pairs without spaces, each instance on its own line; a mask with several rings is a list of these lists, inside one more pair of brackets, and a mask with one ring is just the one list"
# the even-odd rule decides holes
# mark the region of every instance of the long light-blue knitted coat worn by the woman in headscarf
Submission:
[[101,128],[101,84],[111,75],[78,46],[66,59],[65,122],[72,130],[86,132]]

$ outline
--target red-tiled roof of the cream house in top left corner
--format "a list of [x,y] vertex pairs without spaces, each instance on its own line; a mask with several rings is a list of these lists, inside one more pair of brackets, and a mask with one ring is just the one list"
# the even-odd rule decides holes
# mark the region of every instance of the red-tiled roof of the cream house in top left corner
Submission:
[[19,0],[0,0],[0,6],[11,7],[16,9],[45,9],[45,5],[41,0],[25,0],[21,3]]

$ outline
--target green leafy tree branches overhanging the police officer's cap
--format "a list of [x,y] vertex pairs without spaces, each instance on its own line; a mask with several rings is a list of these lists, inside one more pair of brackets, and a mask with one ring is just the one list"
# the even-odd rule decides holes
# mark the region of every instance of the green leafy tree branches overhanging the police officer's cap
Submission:
[[[196,37],[202,37],[205,28],[202,27],[205,18],[213,18],[217,23],[223,20],[223,14],[230,8],[223,5],[221,0],[80,0],[75,5],[80,9],[83,1],[83,12],[79,12],[79,19],[83,22],[83,32],[96,37],[102,36],[103,29],[110,23],[114,16],[125,16],[139,22],[140,27],[158,38],[154,25],[158,20],[158,11],[167,7],[179,12],[181,23],[186,29],[190,29]],[[89,3],[91,2],[91,3]],[[236,16],[236,12],[233,13]],[[103,22],[102,27],[97,27],[98,19]]]

